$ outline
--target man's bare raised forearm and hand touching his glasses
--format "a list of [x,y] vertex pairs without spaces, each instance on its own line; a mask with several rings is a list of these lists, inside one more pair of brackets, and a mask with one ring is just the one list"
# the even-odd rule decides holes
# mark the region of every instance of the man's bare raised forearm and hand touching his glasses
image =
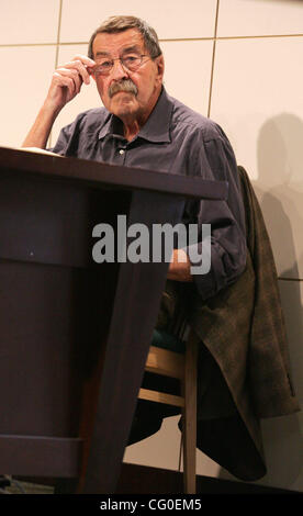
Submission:
[[79,55],[54,71],[45,102],[22,147],[46,147],[47,138],[57,115],[64,105],[79,93],[83,82],[89,85],[90,67],[94,66],[94,60]]

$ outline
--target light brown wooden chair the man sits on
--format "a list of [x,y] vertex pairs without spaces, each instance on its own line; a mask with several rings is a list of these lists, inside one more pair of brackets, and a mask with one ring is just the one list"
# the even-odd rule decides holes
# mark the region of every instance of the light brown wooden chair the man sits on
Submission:
[[162,332],[157,334],[157,345],[153,346],[153,339],[145,371],[180,380],[181,395],[141,389],[138,397],[182,408],[184,493],[195,494],[198,337],[192,329],[187,341],[180,341]]

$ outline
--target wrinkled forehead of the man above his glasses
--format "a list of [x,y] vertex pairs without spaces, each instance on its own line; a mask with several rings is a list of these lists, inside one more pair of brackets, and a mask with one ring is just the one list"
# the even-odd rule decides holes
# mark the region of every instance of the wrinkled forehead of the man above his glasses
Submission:
[[125,52],[145,52],[143,35],[136,29],[127,29],[119,33],[100,33],[97,34],[92,44],[93,58],[102,56],[121,55]]

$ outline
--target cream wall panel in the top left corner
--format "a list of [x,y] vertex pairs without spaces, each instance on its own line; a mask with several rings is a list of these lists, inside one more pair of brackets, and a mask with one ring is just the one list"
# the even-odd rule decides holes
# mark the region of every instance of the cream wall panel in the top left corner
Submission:
[[0,45],[56,43],[59,0],[1,0]]

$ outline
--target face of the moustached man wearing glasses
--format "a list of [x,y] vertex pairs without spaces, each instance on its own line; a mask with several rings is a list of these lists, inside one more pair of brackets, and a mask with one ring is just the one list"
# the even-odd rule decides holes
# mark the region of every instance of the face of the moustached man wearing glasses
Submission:
[[[104,106],[123,121],[145,120],[149,116],[161,90],[164,75],[162,56],[152,59],[145,49],[142,34],[136,29],[117,34],[97,34],[93,45],[93,59],[97,65],[101,60],[115,59],[108,75],[96,74],[94,79],[99,94]],[[141,66],[135,71],[124,68],[120,57],[128,55],[147,54],[143,57]],[[120,81],[131,80],[131,88],[122,86]],[[115,90],[120,90],[115,92]],[[131,90],[131,91],[130,91]]]

